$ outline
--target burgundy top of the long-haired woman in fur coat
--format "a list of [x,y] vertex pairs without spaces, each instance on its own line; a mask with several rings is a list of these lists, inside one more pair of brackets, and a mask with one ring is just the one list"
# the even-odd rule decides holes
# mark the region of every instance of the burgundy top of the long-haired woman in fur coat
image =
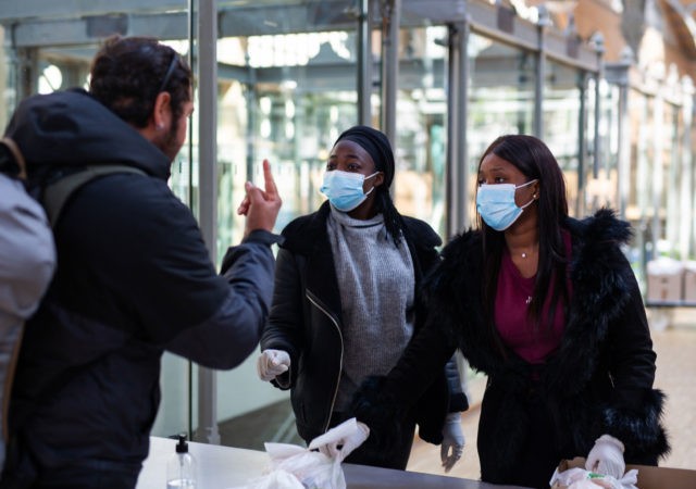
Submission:
[[[570,234],[563,231],[567,254],[570,256]],[[536,274],[525,278],[514,263],[510,252],[502,253],[500,273],[498,274],[498,291],[496,293],[495,321],[502,341],[520,358],[531,364],[542,364],[561,342],[566,314],[561,304],[557,304],[554,323],[548,324],[548,312],[551,294],[546,296],[538,326],[527,316],[529,303],[534,293]],[[551,277],[549,289],[555,287],[556,277]],[[570,291],[570,285],[569,285]]]

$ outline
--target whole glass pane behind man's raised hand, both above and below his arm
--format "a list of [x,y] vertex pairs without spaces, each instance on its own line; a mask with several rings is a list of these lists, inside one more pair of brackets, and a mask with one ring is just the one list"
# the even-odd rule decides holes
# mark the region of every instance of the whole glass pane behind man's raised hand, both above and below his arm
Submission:
[[[323,8],[322,1],[303,3],[309,12]],[[223,36],[217,43],[219,256],[241,239],[236,209],[246,180],[262,185],[263,159],[283,196],[281,230],[323,202],[319,187],[328,150],[358,118],[355,32],[315,32],[311,22],[302,28]],[[288,391],[258,379],[256,358],[216,376],[221,442],[260,450],[270,440],[301,443]]]

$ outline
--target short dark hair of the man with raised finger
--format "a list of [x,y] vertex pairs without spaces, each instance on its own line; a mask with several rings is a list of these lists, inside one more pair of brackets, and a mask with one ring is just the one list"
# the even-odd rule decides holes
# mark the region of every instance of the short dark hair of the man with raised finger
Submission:
[[91,64],[89,92],[135,127],[145,127],[166,91],[176,121],[190,99],[191,71],[169,46],[149,37],[113,36]]

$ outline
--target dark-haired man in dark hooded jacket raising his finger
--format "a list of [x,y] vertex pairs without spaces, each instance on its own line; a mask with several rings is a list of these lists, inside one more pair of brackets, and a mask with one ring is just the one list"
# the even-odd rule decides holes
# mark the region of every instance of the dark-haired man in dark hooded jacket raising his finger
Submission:
[[59,266],[26,327],[1,487],[134,487],[162,353],[233,368],[257,347],[281,199],[264,162],[265,191],[247,184],[245,237],[217,275],[166,185],[191,111],[191,72],[174,50],[116,37],[94,60],[89,93],[29,98],[10,122],[7,135],[46,178],[58,166],[139,172],[79,188],[55,224]]

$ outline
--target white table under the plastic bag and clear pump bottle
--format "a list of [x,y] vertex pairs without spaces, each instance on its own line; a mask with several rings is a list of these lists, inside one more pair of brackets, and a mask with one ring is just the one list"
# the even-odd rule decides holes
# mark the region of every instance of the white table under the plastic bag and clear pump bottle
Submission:
[[[176,440],[150,438],[150,454],[142,464],[136,489],[165,489],[166,462],[174,453]],[[263,475],[270,459],[265,452],[206,443],[188,443],[198,468],[197,489],[227,489],[243,486]],[[365,465],[344,464],[349,489],[515,489],[477,480],[435,476],[415,472],[393,471]],[[520,488],[517,488],[520,489]]]

